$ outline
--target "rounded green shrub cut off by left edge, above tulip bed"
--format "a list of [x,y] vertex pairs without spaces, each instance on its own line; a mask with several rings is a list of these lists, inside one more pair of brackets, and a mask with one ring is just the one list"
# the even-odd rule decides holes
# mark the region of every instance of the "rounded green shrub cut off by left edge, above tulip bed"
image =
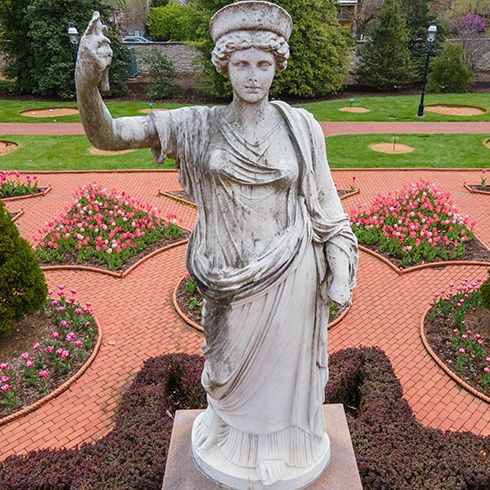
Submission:
[[47,294],[34,251],[0,202],[0,334],[39,310]]

